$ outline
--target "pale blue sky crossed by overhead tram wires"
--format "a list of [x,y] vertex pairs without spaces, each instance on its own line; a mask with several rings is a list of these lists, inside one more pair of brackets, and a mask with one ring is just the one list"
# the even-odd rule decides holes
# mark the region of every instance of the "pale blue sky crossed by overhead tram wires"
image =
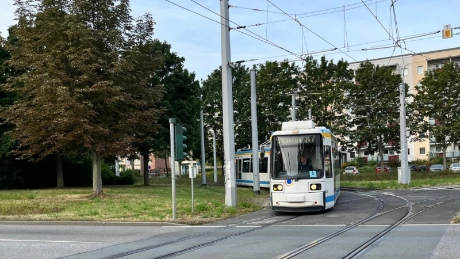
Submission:
[[[0,2],[0,32],[6,37],[15,7],[13,0]],[[248,67],[282,60],[301,65],[299,57],[308,54],[351,63],[460,47],[459,0],[393,2],[394,8],[391,0],[230,0],[231,60]],[[130,3],[133,17],[152,14],[154,37],[171,44],[196,79],[207,79],[222,64],[219,0]],[[438,32],[445,25],[454,28],[452,38]],[[403,49],[394,48],[398,39]]]

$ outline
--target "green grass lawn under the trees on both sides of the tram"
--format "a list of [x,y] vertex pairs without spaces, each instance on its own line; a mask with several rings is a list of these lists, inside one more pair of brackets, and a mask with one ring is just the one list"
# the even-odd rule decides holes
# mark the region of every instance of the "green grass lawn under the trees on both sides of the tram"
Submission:
[[[104,221],[104,222],[174,222],[203,224],[257,211],[269,204],[268,190],[256,195],[252,188],[237,188],[237,206],[225,205],[225,187],[219,173],[215,184],[207,175],[194,179],[192,212],[191,180],[176,180],[176,220],[172,219],[170,178],[151,178],[150,186],[136,178],[133,186],[104,186],[103,195],[93,197],[92,189],[64,188],[0,191],[0,220],[24,221]],[[412,172],[409,185],[398,183],[395,169],[390,173],[341,175],[341,185],[370,190],[407,189],[460,184],[460,173]],[[453,219],[460,223],[460,216]]]

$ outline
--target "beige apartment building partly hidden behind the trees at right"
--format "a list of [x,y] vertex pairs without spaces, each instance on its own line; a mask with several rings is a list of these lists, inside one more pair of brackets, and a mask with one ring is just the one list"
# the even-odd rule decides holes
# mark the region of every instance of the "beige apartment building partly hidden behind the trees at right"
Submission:
[[[384,57],[378,59],[368,60],[369,62],[379,65],[387,66],[393,69],[393,72],[400,74],[403,82],[409,86],[409,93],[417,94],[415,91],[416,85],[423,79],[427,70],[441,68],[446,62],[457,62],[460,69],[460,48],[442,49],[417,54],[406,54],[392,57]],[[362,62],[362,61],[361,61]],[[350,63],[350,68],[356,70],[361,62]],[[407,100],[412,102],[411,99]],[[432,125],[436,124],[435,118],[430,118]],[[434,156],[441,156],[441,148],[437,145],[434,139],[426,139],[420,142],[408,142],[408,160],[413,161],[417,159],[429,159]],[[378,154],[369,154],[364,149],[359,150],[360,157],[367,157],[368,160],[376,160]],[[396,155],[395,151],[391,149],[391,145],[385,147],[384,160],[391,160]],[[446,153],[447,158],[460,157],[460,143],[452,144]]]

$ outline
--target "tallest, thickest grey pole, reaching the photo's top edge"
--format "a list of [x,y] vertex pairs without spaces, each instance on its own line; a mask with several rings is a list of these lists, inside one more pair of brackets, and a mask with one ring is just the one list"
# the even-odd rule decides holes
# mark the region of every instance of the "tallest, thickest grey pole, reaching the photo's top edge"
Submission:
[[232,70],[228,0],[220,1],[222,52],[222,109],[225,158],[225,204],[236,207],[235,136],[233,129]]

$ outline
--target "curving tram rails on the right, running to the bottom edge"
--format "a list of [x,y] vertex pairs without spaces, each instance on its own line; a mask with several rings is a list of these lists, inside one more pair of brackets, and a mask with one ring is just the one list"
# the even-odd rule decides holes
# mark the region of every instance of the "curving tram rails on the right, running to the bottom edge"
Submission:
[[[401,199],[401,200],[404,201],[405,204],[403,206],[398,206],[396,208],[390,209],[388,211],[379,212],[379,213],[372,213],[371,215],[369,215],[368,217],[364,218],[363,220],[360,220],[360,221],[358,221],[356,223],[348,225],[348,226],[346,226],[345,228],[343,228],[343,229],[341,229],[339,231],[331,233],[331,234],[329,234],[327,236],[324,236],[324,237],[322,237],[320,239],[317,239],[317,240],[315,240],[315,241],[313,241],[313,242],[311,242],[309,244],[303,245],[301,247],[298,247],[298,248],[296,248],[294,250],[291,250],[289,252],[283,253],[283,254],[281,254],[279,256],[276,256],[274,258],[275,259],[294,258],[294,257],[306,252],[307,250],[310,250],[310,249],[315,248],[315,247],[319,247],[321,244],[323,244],[323,243],[325,243],[325,242],[333,239],[334,237],[337,237],[337,236],[339,236],[339,235],[341,235],[341,234],[343,234],[345,232],[348,232],[348,231],[350,231],[350,230],[352,230],[352,229],[354,229],[354,228],[356,228],[358,226],[364,225],[365,223],[370,222],[370,221],[372,221],[372,220],[374,220],[376,218],[379,218],[379,217],[381,217],[383,215],[386,215],[386,214],[392,213],[394,211],[406,208],[406,210],[407,210],[406,213],[402,217],[398,218],[393,224],[391,224],[390,226],[388,226],[384,230],[379,231],[377,234],[375,234],[374,236],[372,236],[371,238],[369,238],[368,240],[363,242],[361,245],[355,247],[352,251],[350,251],[348,254],[346,254],[346,255],[344,255],[342,257],[343,259],[355,258],[357,255],[361,254],[366,249],[368,249],[372,244],[374,244],[375,242],[380,240],[382,237],[387,235],[389,232],[391,232],[395,228],[397,228],[397,227],[401,226],[402,224],[406,223],[407,221],[409,221],[413,217],[415,217],[415,216],[417,216],[417,215],[419,215],[419,214],[421,214],[421,213],[423,213],[423,212],[425,212],[427,210],[442,206],[444,204],[448,204],[450,202],[460,200],[459,195],[447,195],[447,196],[438,197],[438,198],[434,198],[434,199],[425,199],[425,200],[418,201],[418,202],[409,202],[407,199],[405,199],[405,198],[403,198],[401,196],[397,196],[397,195],[394,195],[394,194],[388,194],[388,193],[381,193],[381,194],[387,195],[387,196],[393,196],[393,197],[396,197],[398,199]],[[367,195],[367,196],[371,196],[371,195]],[[439,202],[439,200],[441,200],[441,199],[450,198],[450,197],[454,197],[454,196],[456,196],[456,197]],[[381,199],[377,198],[377,197],[374,197],[374,196],[372,196],[372,197],[379,200],[379,205],[378,205],[378,208],[376,209],[376,211],[381,211],[382,210],[381,207],[384,204],[384,202]],[[424,206],[421,210],[414,211],[414,205],[419,205],[419,204],[430,202],[430,201],[434,201],[434,203]]]

